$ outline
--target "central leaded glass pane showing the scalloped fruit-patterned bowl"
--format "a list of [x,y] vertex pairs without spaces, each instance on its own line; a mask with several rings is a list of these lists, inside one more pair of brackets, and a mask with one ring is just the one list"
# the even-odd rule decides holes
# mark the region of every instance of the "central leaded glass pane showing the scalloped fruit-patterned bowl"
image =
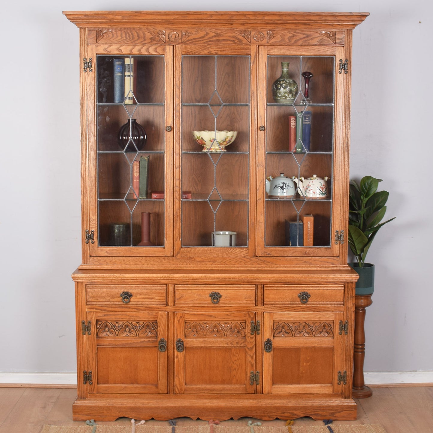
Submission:
[[183,247],[248,246],[249,125],[250,56],[182,56]]

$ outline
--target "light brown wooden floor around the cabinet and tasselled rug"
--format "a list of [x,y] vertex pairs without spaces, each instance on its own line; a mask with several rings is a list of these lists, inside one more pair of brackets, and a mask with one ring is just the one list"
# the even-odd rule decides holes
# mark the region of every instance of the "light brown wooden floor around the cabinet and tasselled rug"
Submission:
[[[0,433],[39,433],[44,424],[84,425],[72,421],[73,388],[0,388]],[[356,421],[335,424],[380,424],[388,433],[433,432],[433,386],[373,388],[373,396],[357,400]],[[116,424],[130,425],[129,418]],[[179,426],[206,421],[179,418]],[[246,419],[227,420],[224,424],[246,424]],[[282,420],[263,421],[263,425],[284,425]],[[110,424],[100,422],[99,424]],[[167,425],[166,421],[146,421],[148,425]],[[295,425],[323,425],[321,421],[298,418]]]

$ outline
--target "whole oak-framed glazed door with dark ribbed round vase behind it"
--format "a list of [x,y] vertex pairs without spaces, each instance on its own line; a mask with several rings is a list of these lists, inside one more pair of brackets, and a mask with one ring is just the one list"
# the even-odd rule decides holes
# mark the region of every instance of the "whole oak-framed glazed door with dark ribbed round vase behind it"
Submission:
[[129,48],[94,54],[90,255],[172,255],[173,48]]

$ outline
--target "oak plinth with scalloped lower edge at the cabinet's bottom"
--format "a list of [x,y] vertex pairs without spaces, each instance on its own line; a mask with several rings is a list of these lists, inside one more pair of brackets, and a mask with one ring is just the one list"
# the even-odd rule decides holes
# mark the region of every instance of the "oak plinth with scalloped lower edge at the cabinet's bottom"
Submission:
[[252,417],[261,420],[355,420],[356,403],[338,394],[137,394],[92,395],[73,405],[75,421],[114,421],[119,417],[136,420],[172,420],[190,417],[201,420],[228,420]]

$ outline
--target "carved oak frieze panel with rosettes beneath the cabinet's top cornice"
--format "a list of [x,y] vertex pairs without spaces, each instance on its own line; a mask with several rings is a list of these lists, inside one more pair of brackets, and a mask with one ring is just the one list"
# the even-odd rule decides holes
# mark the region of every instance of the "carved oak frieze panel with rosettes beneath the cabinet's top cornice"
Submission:
[[197,27],[147,27],[89,29],[90,45],[240,44],[240,45],[343,45],[343,30],[202,29]]

